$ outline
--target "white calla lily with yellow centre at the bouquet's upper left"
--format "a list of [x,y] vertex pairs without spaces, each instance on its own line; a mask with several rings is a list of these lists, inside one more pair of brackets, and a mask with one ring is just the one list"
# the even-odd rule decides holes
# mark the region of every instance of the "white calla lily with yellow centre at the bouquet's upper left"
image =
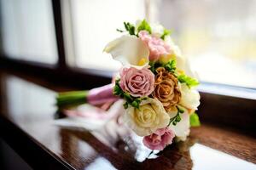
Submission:
[[138,69],[148,65],[149,49],[144,42],[135,36],[122,36],[112,42],[108,42],[104,52],[112,55],[125,66],[133,66]]

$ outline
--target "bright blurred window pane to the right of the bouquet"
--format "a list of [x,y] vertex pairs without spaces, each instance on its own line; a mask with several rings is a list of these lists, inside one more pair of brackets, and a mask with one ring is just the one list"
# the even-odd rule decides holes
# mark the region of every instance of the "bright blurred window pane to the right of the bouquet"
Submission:
[[201,81],[256,88],[255,1],[161,0],[154,8]]

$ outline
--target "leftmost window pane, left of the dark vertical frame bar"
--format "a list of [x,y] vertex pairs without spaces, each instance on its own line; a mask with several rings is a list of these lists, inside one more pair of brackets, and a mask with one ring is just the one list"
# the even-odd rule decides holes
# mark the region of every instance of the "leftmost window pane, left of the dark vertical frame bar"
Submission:
[[2,0],[3,53],[55,64],[57,48],[50,0]]

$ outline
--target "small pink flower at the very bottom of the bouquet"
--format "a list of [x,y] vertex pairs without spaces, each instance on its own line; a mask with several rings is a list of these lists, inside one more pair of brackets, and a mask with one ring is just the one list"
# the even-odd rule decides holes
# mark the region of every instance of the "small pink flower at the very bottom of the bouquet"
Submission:
[[145,136],[143,144],[150,150],[164,150],[166,145],[172,144],[174,136],[175,134],[170,128],[160,128],[156,132]]

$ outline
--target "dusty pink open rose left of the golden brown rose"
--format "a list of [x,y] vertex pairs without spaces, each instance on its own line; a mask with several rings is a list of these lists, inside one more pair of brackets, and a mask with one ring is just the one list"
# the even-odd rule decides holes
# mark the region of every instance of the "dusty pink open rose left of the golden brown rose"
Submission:
[[145,67],[124,68],[120,71],[120,87],[134,97],[148,96],[154,91],[154,74]]

